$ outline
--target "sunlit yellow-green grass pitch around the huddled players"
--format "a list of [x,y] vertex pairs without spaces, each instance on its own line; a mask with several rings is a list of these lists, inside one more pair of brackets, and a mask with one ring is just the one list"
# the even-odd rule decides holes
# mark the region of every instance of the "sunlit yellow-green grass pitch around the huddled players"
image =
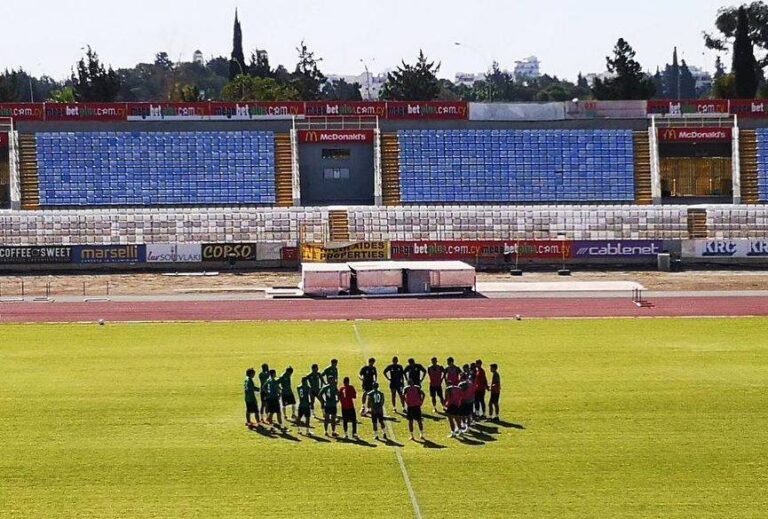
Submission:
[[2,517],[414,517],[397,448],[243,427],[246,367],[335,356],[343,376],[393,354],[498,362],[503,418],[525,428],[465,444],[428,420],[445,448],[424,448],[394,424],[423,517],[768,510],[766,319],[29,325],[0,341]]

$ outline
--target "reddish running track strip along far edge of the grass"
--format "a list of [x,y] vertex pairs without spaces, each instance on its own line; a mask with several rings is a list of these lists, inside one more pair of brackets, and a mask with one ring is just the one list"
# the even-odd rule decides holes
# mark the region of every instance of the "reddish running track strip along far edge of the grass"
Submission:
[[765,297],[407,299],[0,304],[0,323],[768,316]]

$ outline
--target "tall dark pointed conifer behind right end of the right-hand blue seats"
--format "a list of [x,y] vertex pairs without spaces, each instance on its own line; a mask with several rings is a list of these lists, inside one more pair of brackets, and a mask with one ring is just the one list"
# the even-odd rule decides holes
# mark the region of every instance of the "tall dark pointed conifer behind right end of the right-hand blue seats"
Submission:
[[635,60],[635,50],[623,38],[619,38],[608,56],[606,65],[612,77],[595,79],[592,93],[597,99],[650,99],[655,92],[653,81],[643,73],[640,63]]

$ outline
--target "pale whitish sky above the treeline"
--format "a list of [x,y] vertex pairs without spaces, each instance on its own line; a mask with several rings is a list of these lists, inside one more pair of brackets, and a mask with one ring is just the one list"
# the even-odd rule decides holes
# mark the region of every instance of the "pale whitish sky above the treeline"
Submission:
[[[711,30],[722,0],[1,0],[4,45],[0,67],[65,77],[91,44],[115,67],[151,61],[167,51],[190,60],[231,51],[240,9],[246,52],[266,48],[272,63],[295,64],[306,39],[326,73],[374,71],[412,61],[419,48],[442,61],[441,76],[485,70],[492,59],[512,68],[536,55],[543,71],[575,78],[599,72],[619,37],[630,41],[646,69],[669,61],[677,45],[692,65],[712,69],[701,33]],[[126,6],[129,8],[126,9]],[[471,8],[470,8],[471,6]],[[31,38],[31,39],[29,39]],[[456,46],[455,42],[462,46]]]

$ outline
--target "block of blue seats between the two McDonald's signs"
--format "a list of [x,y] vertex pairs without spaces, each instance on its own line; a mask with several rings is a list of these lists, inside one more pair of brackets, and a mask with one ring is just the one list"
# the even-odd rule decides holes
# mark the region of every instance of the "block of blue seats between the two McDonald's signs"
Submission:
[[635,199],[629,130],[403,130],[404,203]]

